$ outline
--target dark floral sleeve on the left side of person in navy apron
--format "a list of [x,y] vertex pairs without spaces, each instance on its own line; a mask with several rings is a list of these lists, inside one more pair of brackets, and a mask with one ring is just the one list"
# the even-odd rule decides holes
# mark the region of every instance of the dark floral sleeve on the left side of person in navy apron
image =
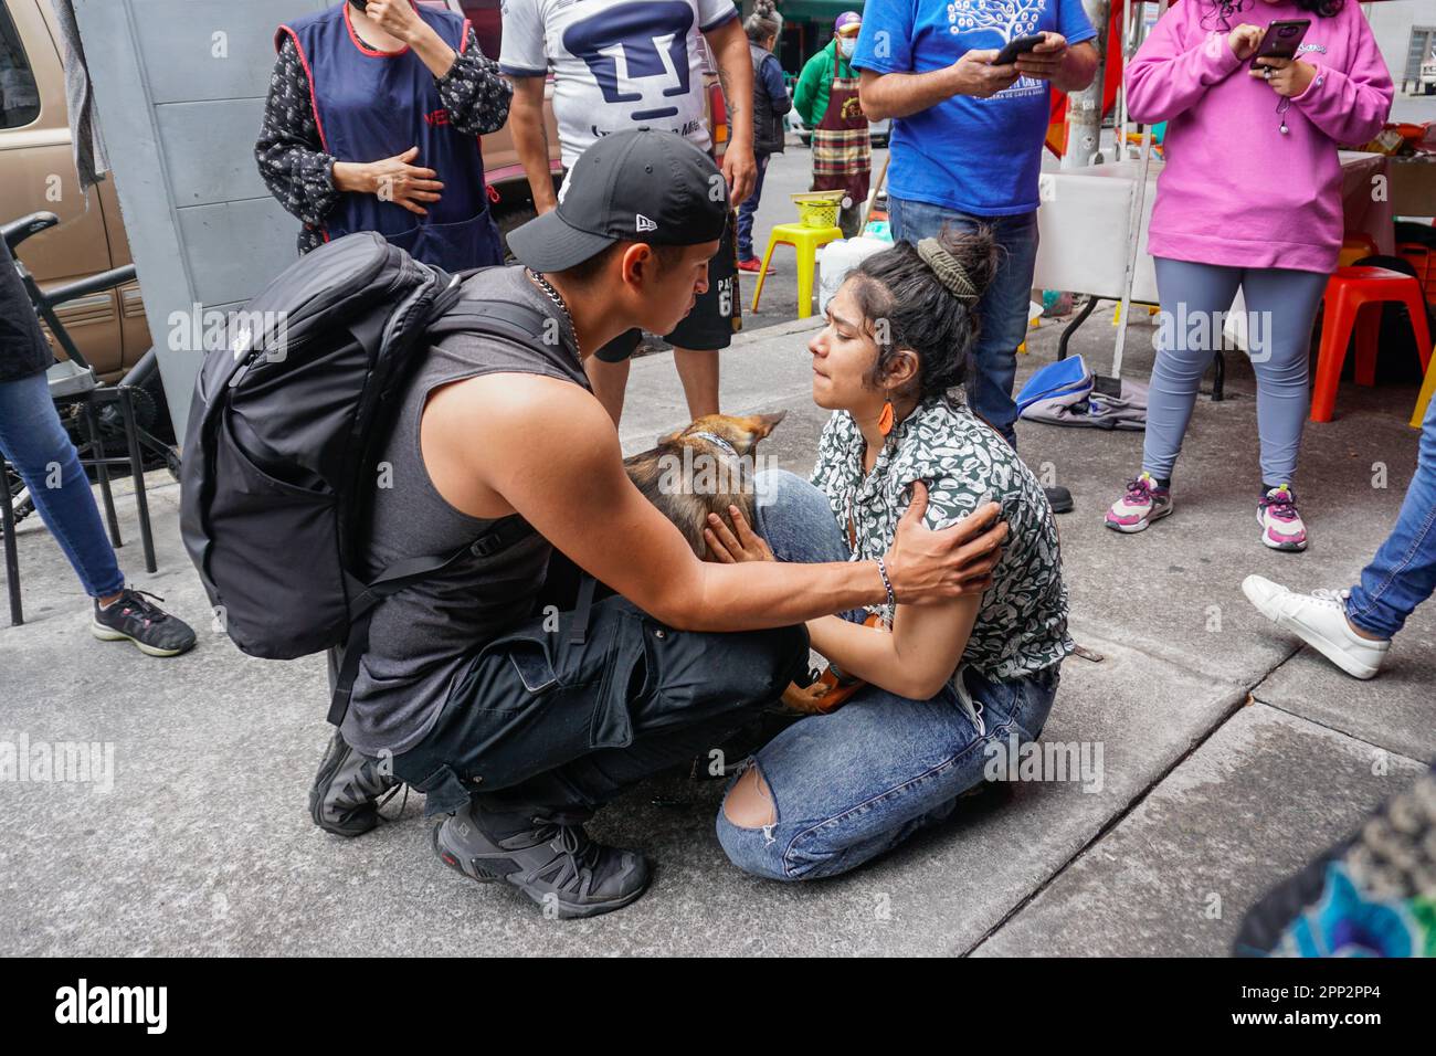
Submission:
[[303,223],[319,226],[339,203],[335,158],[325,152],[299,49],[286,39],[264,101],[264,125],[254,158],[279,204]]

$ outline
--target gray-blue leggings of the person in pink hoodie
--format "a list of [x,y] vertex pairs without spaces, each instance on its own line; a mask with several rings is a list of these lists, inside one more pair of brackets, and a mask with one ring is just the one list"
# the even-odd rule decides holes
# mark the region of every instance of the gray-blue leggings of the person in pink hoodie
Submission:
[[1265,484],[1290,484],[1310,407],[1311,323],[1327,287],[1320,272],[1284,267],[1221,267],[1155,259],[1162,330],[1152,368],[1142,468],[1170,477],[1182,435],[1212,362],[1222,328],[1216,313],[1246,299],[1249,355],[1256,372],[1256,431]]

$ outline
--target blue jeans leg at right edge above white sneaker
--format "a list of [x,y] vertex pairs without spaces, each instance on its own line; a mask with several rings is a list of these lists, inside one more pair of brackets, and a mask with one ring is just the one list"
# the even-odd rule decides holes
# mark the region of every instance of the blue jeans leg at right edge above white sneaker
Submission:
[[1436,590],[1436,399],[1422,424],[1416,476],[1406,488],[1396,527],[1347,598],[1347,618],[1363,631],[1391,638],[1417,605]]

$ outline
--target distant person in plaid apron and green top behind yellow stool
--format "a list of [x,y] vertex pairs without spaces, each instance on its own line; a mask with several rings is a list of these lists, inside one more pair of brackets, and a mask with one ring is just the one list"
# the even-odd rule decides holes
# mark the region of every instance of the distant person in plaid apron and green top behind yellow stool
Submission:
[[862,24],[856,11],[837,16],[827,106],[813,129],[813,190],[846,194],[839,214],[844,238],[857,234],[873,170],[867,115],[857,99],[857,72],[849,65]]

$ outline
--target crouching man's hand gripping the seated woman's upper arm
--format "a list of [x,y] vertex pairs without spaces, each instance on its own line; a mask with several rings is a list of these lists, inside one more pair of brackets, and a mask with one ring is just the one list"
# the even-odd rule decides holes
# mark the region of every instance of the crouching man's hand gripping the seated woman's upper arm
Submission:
[[992,586],[992,569],[1002,557],[1007,522],[1002,507],[987,503],[952,527],[933,532],[922,523],[928,486],[912,486],[912,503],[883,557],[893,596],[905,605],[981,595]]

